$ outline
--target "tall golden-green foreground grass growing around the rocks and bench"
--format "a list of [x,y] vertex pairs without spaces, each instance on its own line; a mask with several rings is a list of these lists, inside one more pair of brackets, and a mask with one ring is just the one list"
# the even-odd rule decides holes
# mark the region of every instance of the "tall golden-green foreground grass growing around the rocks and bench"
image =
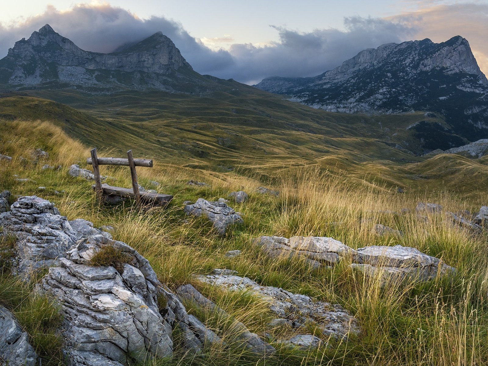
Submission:
[[[190,312],[201,316],[206,325],[222,337],[226,346],[207,347],[205,358],[185,354],[183,348],[177,347],[172,361],[152,360],[145,365],[486,364],[488,236],[486,233],[473,235],[466,229],[448,224],[443,213],[419,216],[414,208],[418,202],[435,202],[442,204],[445,211],[474,212],[486,204],[487,192],[463,196],[447,190],[412,189],[398,194],[396,187],[384,184],[382,179],[371,178],[372,175],[369,179],[355,180],[350,175],[331,174],[317,165],[285,166],[273,173],[272,179],[263,182],[261,175],[245,171],[219,173],[157,163],[153,169],[138,169],[140,183],[175,198],[167,209],[155,208],[139,213],[131,202],[115,207],[98,205],[90,182],[67,175],[69,165],[82,163],[89,153],[84,145],[67,137],[61,128],[47,122],[32,125],[3,122],[0,126],[4,151],[14,158],[12,163],[0,161],[2,189],[11,190],[13,195],[37,193],[54,201],[61,214],[70,220],[81,217],[96,226],[113,226],[114,238],[145,256],[160,280],[173,290],[190,283],[232,319],[263,335],[269,331],[266,324],[271,319],[263,301],[246,292],[226,292],[203,286],[192,277],[192,274],[210,273],[213,268],[234,269],[240,276],[247,276],[261,285],[278,286],[342,305],[358,319],[362,328],[358,337],[343,341],[319,335],[329,342],[329,346],[313,351],[276,344],[276,354],[257,360],[233,346],[233,333],[229,330],[232,329],[232,319],[221,319],[186,304]],[[22,162],[20,156],[29,156],[36,147],[49,152],[46,163],[61,164],[62,168],[46,171],[40,164]],[[111,153],[102,151],[100,155]],[[444,158],[435,159],[443,162]],[[452,159],[459,162],[457,157]],[[14,172],[35,183],[17,182]],[[113,177],[115,185],[130,186],[125,167],[103,166],[102,174]],[[190,179],[206,182],[209,186],[186,185]],[[150,181],[160,185],[153,186]],[[261,185],[279,190],[280,195],[257,193],[256,189]],[[46,190],[39,192],[38,186],[46,186]],[[56,194],[55,190],[64,192]],[[229,203],[242,213],[244,224],[235,226],[224,237],[219,236],[204,218],[184,215],[183,201],[194,202],[199,197],[216,200],[237,190],[249,194],[245,203]],[[371,232],[376,223],[402,230],[405,235],[376,236]],[[252,242],[260,235],[329,236],[353,248],[412,246],[441,258],[458,272],[451,279],[439,277],[427,284],[412,281],[384,286],[379,277],[371,278],[351,270],[346,260],[332,269],[317,270],[299,259],[272,260]],[[224,257],[227,250],[233,249],[242,250],[241,256]],[[101,263],[112,263],[112,258],[117,257],[116,253],[108,254],[108,259]],[[115,262],[122,260],[119,258]],[[56,336],[53,329],[59,325],[59,315],[53,305],[34,295],[32,288],[33,284],[20,284],[4,275],[0,283],[0,303],[19,316],[24,329],[33,342],[37,342],[37,349],[44,349],[41,352],[45,355],[59,354],[56,342],[49,341],[46,343],[48,347],[43,348],[41,341],[36,341],[49,340],[42,334]],[[279,338],[285,334],[277,331],[274,336]],[[175,338],[178,340],[178,334]],[[55,356],[46,357],[56,360]]]

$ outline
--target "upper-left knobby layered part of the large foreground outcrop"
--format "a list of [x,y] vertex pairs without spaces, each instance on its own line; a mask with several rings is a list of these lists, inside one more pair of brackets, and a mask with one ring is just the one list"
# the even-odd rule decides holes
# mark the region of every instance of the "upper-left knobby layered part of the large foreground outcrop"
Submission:
[[0,226],[17,237],[17,273],[57,263],[57,258],[78,240],[66,217],[54,203],[37,196],[20,197],[0,214]]

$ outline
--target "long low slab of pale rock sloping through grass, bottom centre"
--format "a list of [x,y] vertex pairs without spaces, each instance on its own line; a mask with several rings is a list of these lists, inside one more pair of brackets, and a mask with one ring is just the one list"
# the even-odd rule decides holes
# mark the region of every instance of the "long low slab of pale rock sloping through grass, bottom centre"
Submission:
[[302,325],[316,325],[325,336],[338,339],[360,332],[357,320],[341,305],[315,301],[309,296],[294,294],[283,288],[260,286],[247,277],[200,275],[196,278],[203,283],[230,291],[249,291],[263,299],[277,319],[294,321],[299,324],[295,326],[297,328]]

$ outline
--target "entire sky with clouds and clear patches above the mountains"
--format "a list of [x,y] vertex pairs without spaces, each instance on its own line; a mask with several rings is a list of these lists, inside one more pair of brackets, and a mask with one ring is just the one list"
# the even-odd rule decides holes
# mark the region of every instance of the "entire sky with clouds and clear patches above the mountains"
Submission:
[[466,38],[488,73],[488,0],[0,0],[0,58],[49,23],[88,51],[162,31],[201,74],[306,77],[388,42]]

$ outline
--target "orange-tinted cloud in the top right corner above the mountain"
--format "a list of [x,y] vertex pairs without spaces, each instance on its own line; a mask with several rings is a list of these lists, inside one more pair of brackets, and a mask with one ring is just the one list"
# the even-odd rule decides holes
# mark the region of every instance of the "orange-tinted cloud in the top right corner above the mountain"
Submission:
[[454,36],[466,38],[481,71],[488,74],[488,4],[463,3],[431,5],[419,2],[420,9],[390,17],[404,21],[417,30],[415,39],[447,41]]

